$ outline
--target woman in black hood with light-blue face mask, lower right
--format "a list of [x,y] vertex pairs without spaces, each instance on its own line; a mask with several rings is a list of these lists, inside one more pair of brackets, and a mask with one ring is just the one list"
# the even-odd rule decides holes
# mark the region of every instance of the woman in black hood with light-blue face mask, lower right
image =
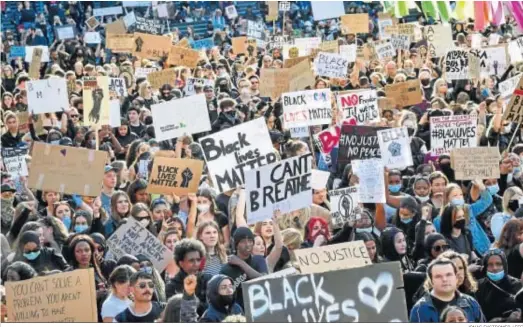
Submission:
[[507,318],[511,312],[520,308],[515,295],[523,287],[521,281],[508,275],[505,253],[499,249],[489,250],[483,257],[485,278],[478,283],[476,299],[490,321],[494,318]]

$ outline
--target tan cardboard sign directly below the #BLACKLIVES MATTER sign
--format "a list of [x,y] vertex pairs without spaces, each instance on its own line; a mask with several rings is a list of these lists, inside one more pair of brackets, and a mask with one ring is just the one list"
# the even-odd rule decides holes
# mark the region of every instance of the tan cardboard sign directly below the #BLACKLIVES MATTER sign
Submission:
[[498,147],[452,149],[450,159],[458,181],[500,177]]

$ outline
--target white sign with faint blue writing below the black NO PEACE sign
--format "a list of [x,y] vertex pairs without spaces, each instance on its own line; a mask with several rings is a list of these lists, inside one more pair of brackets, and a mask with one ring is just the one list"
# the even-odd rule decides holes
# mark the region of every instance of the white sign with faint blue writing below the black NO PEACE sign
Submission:
[[360,203],[385,203],[385,178],[381,159],[352,160],[352,170],[360,183]]

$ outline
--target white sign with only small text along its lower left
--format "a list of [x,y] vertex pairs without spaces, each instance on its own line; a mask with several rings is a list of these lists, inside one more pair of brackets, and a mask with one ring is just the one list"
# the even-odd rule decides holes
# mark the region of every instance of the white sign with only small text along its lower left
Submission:
[[158,141],[211,130],[204,94],[154,104],[151,112]]

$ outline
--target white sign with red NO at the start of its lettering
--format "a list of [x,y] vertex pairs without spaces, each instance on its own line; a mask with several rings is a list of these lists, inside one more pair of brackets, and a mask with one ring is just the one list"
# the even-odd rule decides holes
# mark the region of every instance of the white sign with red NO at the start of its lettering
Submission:
[[344,119],[355,117],[358,125],[380,122],[376,90],[338,93],[336,102]]

